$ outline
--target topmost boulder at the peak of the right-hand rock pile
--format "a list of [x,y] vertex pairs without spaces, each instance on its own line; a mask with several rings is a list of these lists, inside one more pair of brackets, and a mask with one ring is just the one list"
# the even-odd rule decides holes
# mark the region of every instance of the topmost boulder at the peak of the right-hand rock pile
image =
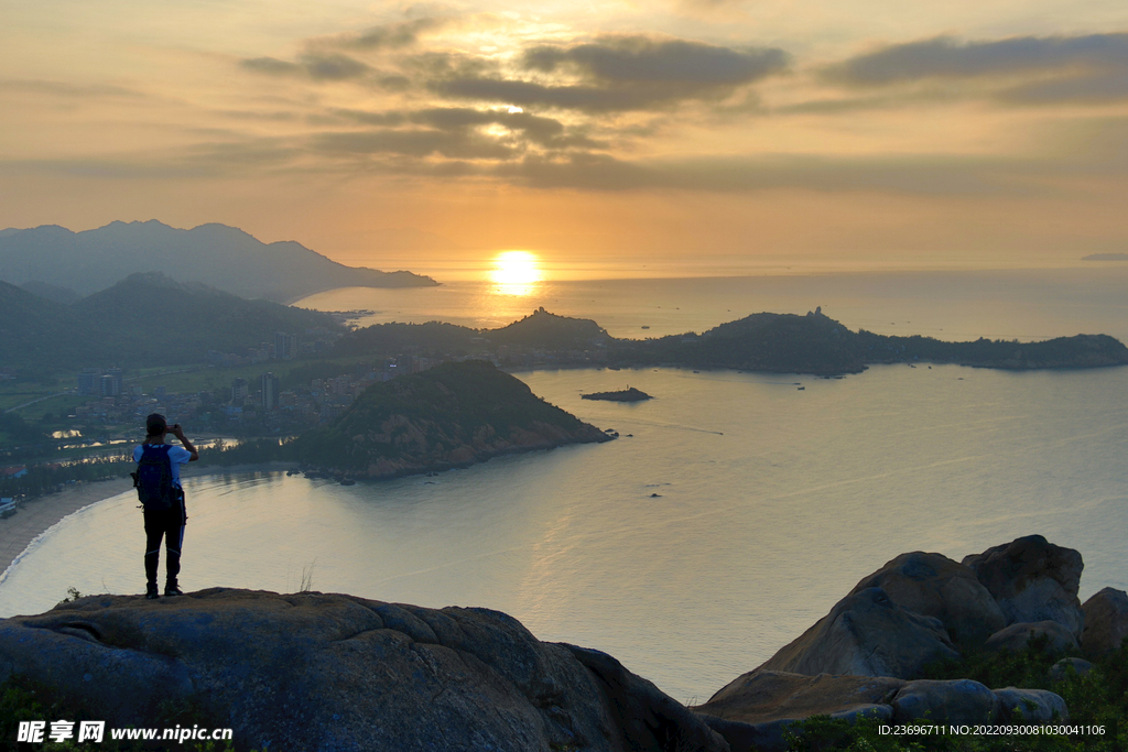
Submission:
[[1085,565],[1072,548],[1026,536],[963,558],[1003,610],[1006,622],[1057,621],[1081,639],[1085,614],[1077,589]]

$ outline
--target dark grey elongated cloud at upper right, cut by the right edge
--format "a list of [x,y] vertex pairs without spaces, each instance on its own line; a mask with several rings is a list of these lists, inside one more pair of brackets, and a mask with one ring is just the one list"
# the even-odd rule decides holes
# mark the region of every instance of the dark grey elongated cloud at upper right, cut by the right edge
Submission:
[[1105,70],[1128,73],[1128,34],[1022,36],[958,42],[942,36],[890,45],[829,67],[823,74],[849,86],[884,86],[927,78]]

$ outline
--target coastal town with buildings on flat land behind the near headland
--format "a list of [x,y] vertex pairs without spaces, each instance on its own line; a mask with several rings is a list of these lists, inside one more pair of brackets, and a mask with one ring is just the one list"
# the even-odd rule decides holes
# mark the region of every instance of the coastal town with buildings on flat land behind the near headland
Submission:
[[[342,324],[368,311],[341,311]],[[14,514],[29,488],[14,483],[39,468],[59,476],[62,484],[73,480],[68,468],[102,459],[120,461],[124,450],[138,439],[138,426],[151,413],[179,423],[201,446],[230,446],[248,436],[285,437],[336,421],[356,397],[372,384],[398,375],[422,373],[449,362],[485,360],[503,369],[598,366],[607,362],[606,350],[593,343],[590,350],[549,350],[515,345],[494,345],[478,339],[470,353],[443,353],[407,346],[396,354],[373,354],[329,360],[341,334],[324,328],[301,334],[279,331],[273,342],[243,353],[210,351],[208,363],[170,368],[156,374],[134,374],[120,368],[87,366],[74,375],[73,387],[55,397],[69,398],[65,412],[55,416],[68,427],[55,431],[53,441],[30,450],[38,459],[9,462],[0,467],[0,514]],[[303,369],[334,375],[302,379]],[[252,373],[255,372],[255,373]],[[179,390],[162,384],[185,374],[204,374],[209,389]],[[237,375],[233,375],[237,374]],[[73,427],[69,427],[73,426]],[[59,452],[60,461],[44,461],[45,454]],[[80,474],[79,474],[80,475]],[[7,492],[7,493],[5,493]]]

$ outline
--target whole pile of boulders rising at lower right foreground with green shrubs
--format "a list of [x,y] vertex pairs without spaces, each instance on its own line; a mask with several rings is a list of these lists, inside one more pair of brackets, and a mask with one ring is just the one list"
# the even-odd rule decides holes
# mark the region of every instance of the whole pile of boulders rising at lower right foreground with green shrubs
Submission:
[[[867,715],[891,724],[1067,718],[1065,701],[1052,692],[919,675],[931,662],[960,657],[955,639],[971,651],[1022,651],[1032,637],[1045,636],[1049,652],[1076,649],[1074,629],[1084,619],[1092,620],[1094,631],[1086,635],[1094,635],[1094,645],[1114,642],[1095,635],[1123,628],[1120,604],[1128,609],[1128,599],[1105,589],[1085,605],[1094,616],[1082,617],[1076,596],[1082,567],[1077,551],[1041,536],[962,564],[940,554],[902,554],[863,577],[802,636],[694,710],[734,752],[786,750],[788,727],[816,715]],[[1031,614],[1043,618],[1029,622]],[[1092,666],[1066,658],[1055,671],[1064,676],[1070,667],[1084,673]]]

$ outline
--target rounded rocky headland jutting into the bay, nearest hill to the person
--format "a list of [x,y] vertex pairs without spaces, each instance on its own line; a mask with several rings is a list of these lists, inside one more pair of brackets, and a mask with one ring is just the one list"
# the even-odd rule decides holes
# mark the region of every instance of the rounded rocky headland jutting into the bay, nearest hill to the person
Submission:
[[334,475],[378,479],[610,439],[488,361],[465,361],[369,387],[335,423],[283,449]]

